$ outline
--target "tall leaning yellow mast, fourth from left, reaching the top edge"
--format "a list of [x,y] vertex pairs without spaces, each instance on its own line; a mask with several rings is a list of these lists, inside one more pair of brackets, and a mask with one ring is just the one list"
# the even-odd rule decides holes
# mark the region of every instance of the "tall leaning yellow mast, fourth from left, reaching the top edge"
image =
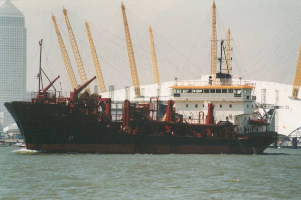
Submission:
[[139,97],[139,96],[141,96],[141,94],[140,94],[140,85],[139,85],[136,61],[135,61],[135,56],[134,56],[133,45],[132,45],[132,42],[130,39],[128,23],[127,23],[127,19],[126,19],[126,15],[125,15],[125,7],[124,7],[123,2],[121,2],[121,10],[122,10],[122,16],[123,16],[124,33],[125,33],[126,48],[127,48],[131,78],[132,78],[132,82],[134,85],[135,95],[136,95],[136,97]]

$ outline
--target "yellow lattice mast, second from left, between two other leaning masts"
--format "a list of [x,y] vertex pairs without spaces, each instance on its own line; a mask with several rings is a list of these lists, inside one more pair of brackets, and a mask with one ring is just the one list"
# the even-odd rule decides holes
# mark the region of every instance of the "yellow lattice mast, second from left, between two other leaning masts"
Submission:
[[[70,25],[69,18],[68,18],[68,15],[67,15],[67,9],[65,9],[65,7],[63,7],[63,13],[64,13],[64,16],[65,16],[66,25],[67,25],[67,29],[68,29],[68,34],[69,34],[73,54],[74,54],[74,57],[75,57],[76,65],[77,65],[77,68],[78,68],[80,80],[81,80],[82,84],[84,84],[85,82],[87,82],[87,74],[86,74],[86,71],[85,71],[85,68],[84,68],[84,65],[83,65],[83,61],[82,61],[81,56],[79,54],[77,42],[75,40],[75,36],[74,36],[73,30],[72,30],[72,27]],[[89,94],[91,94],[89,86],[87,86],[85,88],[85,90]]]

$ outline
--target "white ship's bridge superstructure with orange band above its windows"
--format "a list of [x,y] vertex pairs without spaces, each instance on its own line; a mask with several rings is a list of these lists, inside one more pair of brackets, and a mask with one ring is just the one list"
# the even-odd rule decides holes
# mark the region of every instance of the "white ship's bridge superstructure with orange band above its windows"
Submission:
[[[256,96],[252,96],[254,84],[247,81],[177,81],[170,86],[178,113],[189,119],[203,119],[208,103],[215,104],[215,120],[234,122],[235,115],[252,114]],[[200,118],[201,117],[201,118]]]

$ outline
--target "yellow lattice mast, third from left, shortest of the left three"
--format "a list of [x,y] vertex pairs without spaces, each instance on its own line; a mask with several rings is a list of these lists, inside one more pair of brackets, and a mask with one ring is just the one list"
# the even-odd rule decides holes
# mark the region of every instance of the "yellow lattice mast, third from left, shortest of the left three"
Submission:
[[97,57],[95,46],[94,46],[94,42],[93,42],[92,35],[91,35],[90,29],[89,29],[88,21],[86,21],[85,24],[86,24],[86,29],[87,29],[87,33],[88,33],[88,38],[89,38],[92,58],[93,58],[93,62],[94,62],[94,67],[95,67],[95,71],[96,71],[98,88],[100,89],[100,92],[106,92],[103,77],[102,77],[102,73],[101,73],[101,69],[100,69],[100,65],[99,65],[99,61],[98,61],[98,57]]

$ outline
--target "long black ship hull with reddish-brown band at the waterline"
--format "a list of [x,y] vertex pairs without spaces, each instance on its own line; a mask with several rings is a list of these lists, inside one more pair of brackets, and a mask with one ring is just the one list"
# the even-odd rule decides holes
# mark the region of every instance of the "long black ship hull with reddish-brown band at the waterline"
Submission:
[[236,138],[143,134],[120,131],[119,121],[98,121],[66,103],[7,102],[26,148],[47,152],[239,153],[260,154],[276,132],[250,132]]

